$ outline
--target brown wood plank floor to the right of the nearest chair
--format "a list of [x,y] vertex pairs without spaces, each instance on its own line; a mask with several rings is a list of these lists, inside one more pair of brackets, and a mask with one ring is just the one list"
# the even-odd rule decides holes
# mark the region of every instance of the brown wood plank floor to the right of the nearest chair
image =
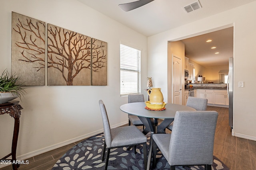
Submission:
[[228,108],[208,106],[219,113],[214,139],[214,155],[231,170],[256,170],[256,141],[231,135]]

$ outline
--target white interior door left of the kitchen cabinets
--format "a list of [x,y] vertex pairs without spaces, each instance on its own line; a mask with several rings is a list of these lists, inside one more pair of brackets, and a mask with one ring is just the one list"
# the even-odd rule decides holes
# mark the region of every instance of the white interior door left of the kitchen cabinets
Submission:
[[181,105],[181,59],[172,56],[172,103]]

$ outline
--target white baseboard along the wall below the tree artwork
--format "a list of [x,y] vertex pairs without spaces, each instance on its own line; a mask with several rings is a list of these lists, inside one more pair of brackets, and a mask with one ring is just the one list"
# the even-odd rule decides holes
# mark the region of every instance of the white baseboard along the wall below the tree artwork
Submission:
[[[113,126],[111,126],[111,128],[119,127],[119,126],[125,125],[127,123],[128,123],[128,121],[125,121],[125,122],[113,125]],[[54,149],[57,149],[57,148],[69,145],[70,143],[74,143],[74,142],[80,141],[82,139],[86,139],[88,137],[92,137],[92,136],[97,135],[97,134],[102,133],[102,132],[103,132],[103,129],[100,129],[98,131],[94,131],[92,133],[88,133],[86,135],[82,135],[80,137],[76,137],[74,139],[70,139],[70,140],[67,140],[67,141],[64,141],[64,142],[61,142],[61,143],[57,143],[57,144],[52,145],[50,147],[46,147],[46,148],[43,148],[43,149],[40,149],[40,150],[35,150],[33,152],[21,155],[21,156],[17,156],[16,158],[17,158],[17,160],[26,160],[26,159],[31,158],[33,156],[36,156],[38,154],[42,154],[44,152],[48,152],[50,150],[54,150]],[[0,165],[0,168],[2,168],[4,166],[8,166],[8,164],[6,164],[6,165],[2,164],[2,165]]]

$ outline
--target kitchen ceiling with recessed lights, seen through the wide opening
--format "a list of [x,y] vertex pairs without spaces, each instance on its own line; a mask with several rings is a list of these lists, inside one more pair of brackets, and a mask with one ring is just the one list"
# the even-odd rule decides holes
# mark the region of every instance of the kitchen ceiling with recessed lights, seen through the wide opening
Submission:
[[[205,67],[228,65],[228,58],[233,57],[233,32],[229,27],[183,39],[185,56]],[[212,41],[206,42],[209,39]]]

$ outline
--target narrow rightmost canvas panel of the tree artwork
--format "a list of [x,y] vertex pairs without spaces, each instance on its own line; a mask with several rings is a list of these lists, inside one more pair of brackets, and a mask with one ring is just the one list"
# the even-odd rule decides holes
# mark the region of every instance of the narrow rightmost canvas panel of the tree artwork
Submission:
[[107,85],[107,43],[92,38],[92,86]]

